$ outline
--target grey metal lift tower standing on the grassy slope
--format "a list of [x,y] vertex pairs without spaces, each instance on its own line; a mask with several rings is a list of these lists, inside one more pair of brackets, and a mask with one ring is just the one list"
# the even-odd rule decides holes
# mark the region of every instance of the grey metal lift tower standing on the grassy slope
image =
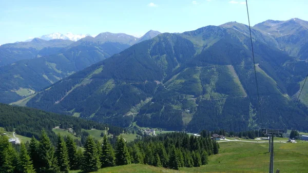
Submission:
[[274,136],[281,136],[283,130],[280,129],[266,129],[262,128],[263,134],[269,137],[269,149],[268,151],[271,152],[271,158],[269,159],[269,173],[274,173]]

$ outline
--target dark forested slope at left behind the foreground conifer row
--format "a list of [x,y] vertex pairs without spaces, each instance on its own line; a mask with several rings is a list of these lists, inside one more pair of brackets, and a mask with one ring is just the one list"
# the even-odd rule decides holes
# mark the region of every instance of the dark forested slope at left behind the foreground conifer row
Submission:
[[[0,127],[6,131],[15,131],[25,137],[38,138],[44,129],[50,137],[56,138],[52,128],[61,126],[64,129],[73,128],[76,136],[81,136],[82,129],[95,128],[109,130],[110,133],[122,132],[122,128],[98,122],[64,116],[27,107],[10,106],[0,103]],[[54,140],[53,140],[54,141]]]

